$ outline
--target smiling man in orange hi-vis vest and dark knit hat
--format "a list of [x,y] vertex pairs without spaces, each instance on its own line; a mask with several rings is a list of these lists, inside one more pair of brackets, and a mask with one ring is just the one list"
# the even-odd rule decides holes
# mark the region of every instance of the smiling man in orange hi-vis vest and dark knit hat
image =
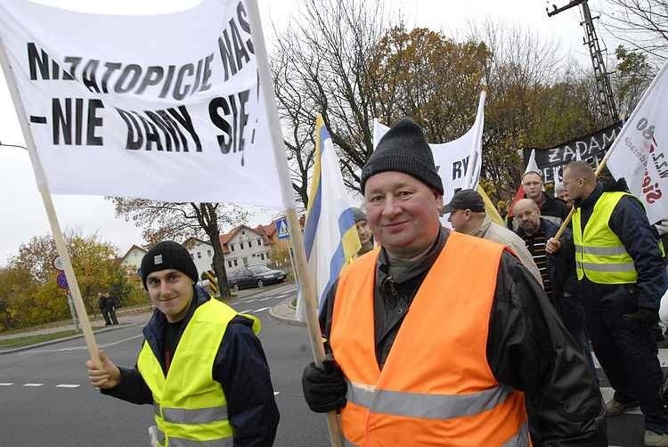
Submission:
[[304,370],[314,411],[346,445],[607,446],[599,389],[541,286],[501,244],[439,223],[443,184],[403,119],[363,167],[381,248],[323,305],[333,360]]

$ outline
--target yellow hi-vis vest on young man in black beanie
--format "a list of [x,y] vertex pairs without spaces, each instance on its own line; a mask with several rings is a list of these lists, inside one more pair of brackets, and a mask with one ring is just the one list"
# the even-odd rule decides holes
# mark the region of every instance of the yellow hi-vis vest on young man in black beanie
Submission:
[[[227,324],[237,314],[213,298],[200,305],[183,330],[167,378],[144,341],[137,368],[153,394],[160,446],[232,446],[227,401],[211,371]],[[260,321],[244,316],[253,320],[253,331],[259,333]]]

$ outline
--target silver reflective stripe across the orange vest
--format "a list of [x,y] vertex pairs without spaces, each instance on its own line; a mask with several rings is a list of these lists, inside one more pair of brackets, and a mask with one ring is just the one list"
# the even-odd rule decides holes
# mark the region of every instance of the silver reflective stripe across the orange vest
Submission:
[[374,390],[348,382],[348,402],[372,412],[423,419],[451,419],[479,414],[504,402],[512,388],[493,388],[471,394],[422,394]]

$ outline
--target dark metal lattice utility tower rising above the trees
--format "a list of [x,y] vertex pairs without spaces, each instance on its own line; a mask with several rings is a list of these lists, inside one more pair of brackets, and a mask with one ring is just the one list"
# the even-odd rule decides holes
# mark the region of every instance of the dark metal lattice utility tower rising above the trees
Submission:
[[589,48],[602,111],[612,122],[617,122],[619,121],[619,113],[617,112],[617,106],[615,104],[615,96],[613,95],[612,86],[610,85],[610,77],[606,70],[606,63],[603,61],[603,53],[600,51],[599,37],[596,36],[596,29],[594,28],[593,19],[599,19],[599,17],[591,17],[587,0],[572,0],[571,3],[566,4],[566,6],[562,6],[561,8],[552,4],[553,10],[550,12],[550,9],[547,9],[548,17],[578,5],[582,6],[582,17],[584,18],[584,21],[582,21],[580,25],[584,27],[584,45],[587,45]]

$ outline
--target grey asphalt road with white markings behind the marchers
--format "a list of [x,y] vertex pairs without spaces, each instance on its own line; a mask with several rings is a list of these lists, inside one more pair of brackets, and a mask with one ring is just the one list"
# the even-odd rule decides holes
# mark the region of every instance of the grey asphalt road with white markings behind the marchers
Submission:
[[[281,410],[275,445],[329,445],[324,418],[307,409],[301,393],[301,370],[310,361],[306,330],[275,321],[268,314],[273,305],[295,295],[294,286],[251,293],[234,300],[232,306],[240,312],[257,315],[263,323],[260,338]],[[114,362],[131,365],[142,342],[141,329],[142,324],[137,324],[98,334],[96,338]],[[102,396],[88,386],[86,357],[82,339],[0,355],[0,445],[147,445],[151,408]],[[660,357],[665,366],[668,350],[661,350]],[[611,389],[600,370],[599,373],[602,392],[608,399]],[[642,445],[639,411],[608,420],[608,435],[610,445]]]

